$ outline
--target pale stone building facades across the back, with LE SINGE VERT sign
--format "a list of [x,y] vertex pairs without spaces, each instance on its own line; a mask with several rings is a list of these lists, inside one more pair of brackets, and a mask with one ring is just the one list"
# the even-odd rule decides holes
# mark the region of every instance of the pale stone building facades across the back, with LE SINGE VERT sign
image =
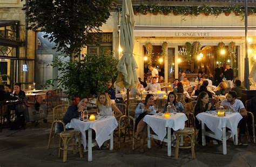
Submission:
[[[159,69],[159,74],[164,77],[164,82],[172,82],[174,78],[179,77],[181,71],[186,71],[190,79],[193,79],[198,71],[214,74],[217,64],[219,67],[225,67],[226,63],[231,64],[234,77],[244,81],[244,14],[240,12],[237,16],[237,13],[231,11],[229,14],[200,12],[195,15],[186,12],[177,14],[174,11],[164,13],[163,10],[153,12],[150,9],[152,6],[161,6],[159,9],[173,6],[177,9],[180,6],[203,8],[206,2],[215,9],[244,5],[243,1],[132,1],[134,9],[139,9],[142,4],[149,9],[146,12],[134,10],[136,24],[133,54],[138,64],[139,77],[143,78],[148,72],[147,66],[151,60]],[[0,2],[0,31],[1,34],[7,34],[0,37],[0,62],[1,75],[8,76],[2,78],[6,80],[5,83],[21,82],[24,89],[28,89],[33,82],[36,82],[37,87],[44,84],[47,79],[57,77],[58,71],[52,69],[49,64],[57,56],[64,55],[59,55],[51,49],[52,43],[42,38],[44,32],[25,30],[26,18],[22,10],[24,4],[24,1]],[[248,2],[248,5],[250,9],[255,9],[255,1]],[[121,6],[122,1],[117,1],[110,18],[101,28],[97,45],[83,48],[78,59],[83,59],[82,56],[86,53],[97,55],[110,52],[116,59],[120,59]],[[251,43],[248,46],[251,48],[248,56],[251,70],[254,57],[256,59],[256,15],[255,11],[249,14],[248,37]]]

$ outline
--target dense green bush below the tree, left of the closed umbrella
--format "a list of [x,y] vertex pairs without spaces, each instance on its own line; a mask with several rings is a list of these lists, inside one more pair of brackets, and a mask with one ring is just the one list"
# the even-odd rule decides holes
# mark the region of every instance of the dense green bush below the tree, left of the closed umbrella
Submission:
[[80,62],[57,59],[51,66],[56,67],[62,76],[46,81],[44,86],[53,86],[57,82],[58,89],[69,99],[105,92],[106,82],[117,77],[117,60],[112,55],[86,55]]

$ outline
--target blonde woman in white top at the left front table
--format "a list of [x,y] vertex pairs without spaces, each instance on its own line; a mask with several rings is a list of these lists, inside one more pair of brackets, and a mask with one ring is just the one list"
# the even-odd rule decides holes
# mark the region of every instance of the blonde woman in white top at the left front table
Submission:
[[[112,103],[107,93],[100,93],[97,97],[96,105],[100,111],[100,115],[114,115],[116,118],[122,116],[122,112]],[[114,114],[112,111],[114,111]]]

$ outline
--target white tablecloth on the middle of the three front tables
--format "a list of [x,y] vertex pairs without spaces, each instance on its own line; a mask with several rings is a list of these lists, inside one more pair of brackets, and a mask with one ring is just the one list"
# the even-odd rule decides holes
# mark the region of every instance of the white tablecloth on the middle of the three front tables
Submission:
[[153,129],[154,133],[158,135],[160,141],[164,140],[167,127],[173,130],[184,129],[186,120],[187,117],[184,113],[171,114],[169,118],[164,118],[164,114],[162,116],[146,115],[143,119]]

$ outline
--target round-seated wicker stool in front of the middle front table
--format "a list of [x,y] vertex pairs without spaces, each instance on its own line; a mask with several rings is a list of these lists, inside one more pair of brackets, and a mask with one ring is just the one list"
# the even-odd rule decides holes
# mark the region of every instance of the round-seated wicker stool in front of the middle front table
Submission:
[[[196,158],[196,155],[194,154],[194,129],[193,128],[184,128],[183,130],[177,130],[174,131],[174,134],[176,134],[176,149],[175,149],[175,159],[178,159],[179,155],[179,148],[191,148],[192,152],[192,159]],[[180,142],[180,136],[188,136],[190,138],[189,142]],[[190,143],[190,146],[179,146],[179,143]]]

